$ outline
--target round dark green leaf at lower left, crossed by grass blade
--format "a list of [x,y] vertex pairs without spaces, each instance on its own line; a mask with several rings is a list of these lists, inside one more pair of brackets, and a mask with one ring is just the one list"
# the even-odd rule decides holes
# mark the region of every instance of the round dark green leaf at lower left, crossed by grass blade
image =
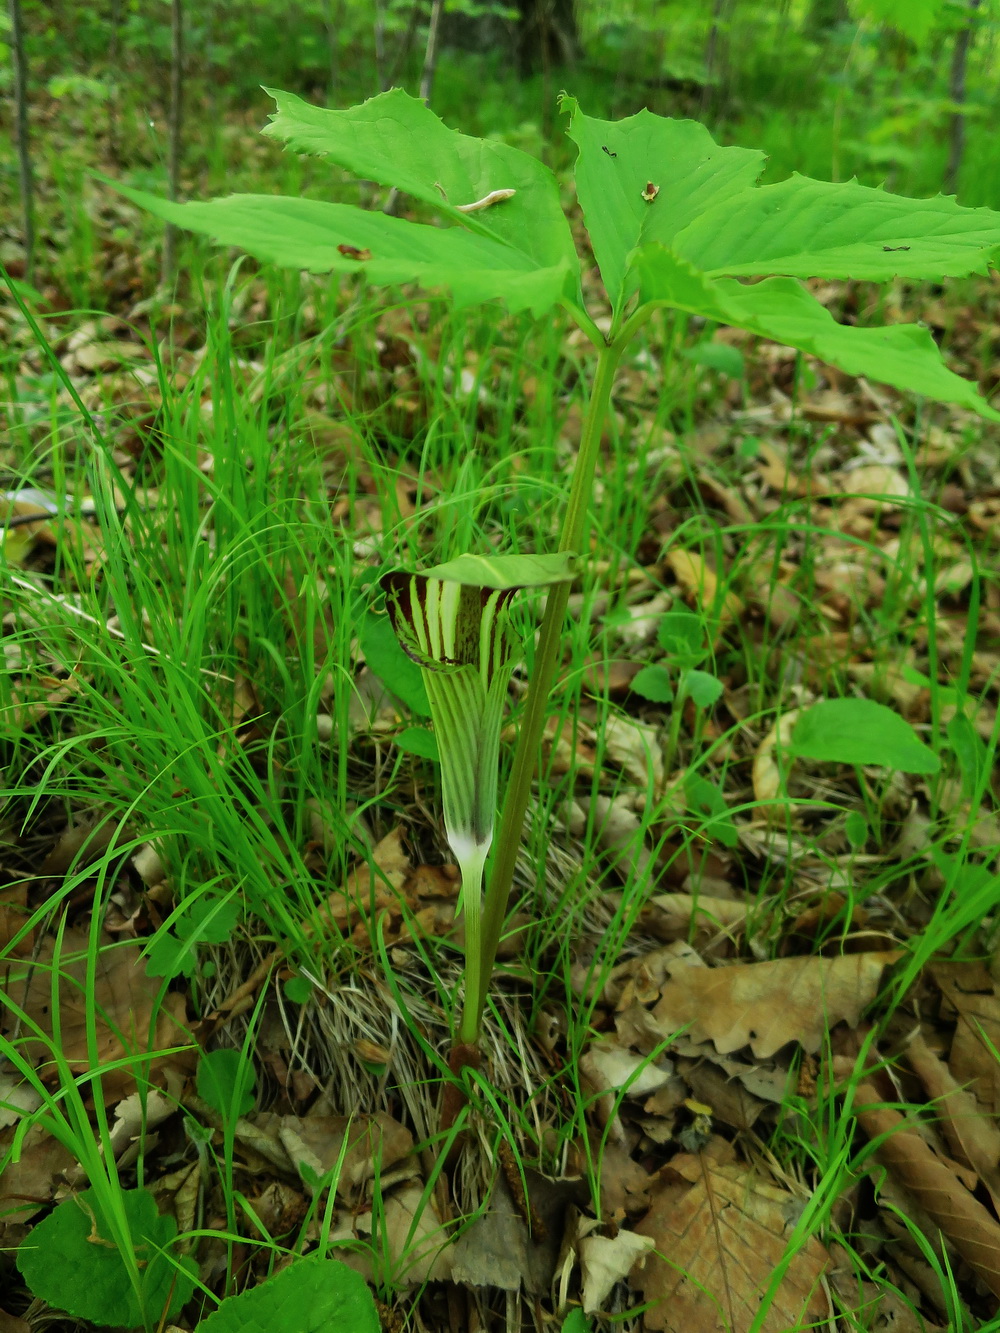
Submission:
[[35,1296],[76,1318],[129,1329],[155,1325],[175,1314],[195,1286],[187,1266],[179,1269],[160,1253],[177,1224],[160,1216],[145,1189],[121,1190],[119,1206],[135,1245],[141,1301],[93,1189],[59,1204],[32,1228],[17,1250],[17,1268]]

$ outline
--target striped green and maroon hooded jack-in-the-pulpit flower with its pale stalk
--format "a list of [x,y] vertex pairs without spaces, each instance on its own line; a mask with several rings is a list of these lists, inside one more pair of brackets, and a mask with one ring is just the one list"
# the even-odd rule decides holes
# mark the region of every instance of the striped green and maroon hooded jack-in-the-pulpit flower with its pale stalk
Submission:
[[497,812],[500,729],[523,649],[511,629],[509,604],[523,588],[573,576],[573,557],[555,555],[460,556],[421,573],[393,571],[381,579],[392,628],[420,666],[435,724],[444,828],[461,870],[467,965],[459,1040],[468,1045],[479,1034],[485,996],[483,870]]

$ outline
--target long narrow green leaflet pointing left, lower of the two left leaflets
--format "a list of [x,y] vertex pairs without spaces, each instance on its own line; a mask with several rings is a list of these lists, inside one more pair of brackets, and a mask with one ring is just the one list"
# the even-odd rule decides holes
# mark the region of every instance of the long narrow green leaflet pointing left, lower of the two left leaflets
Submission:
[[351,204],[280,195],[173,204],[109,184],[157,217],[221,245],[237,245],[257,259],[313,273],[363,269],[380,285],[447,287],[460,307],[499,297],[511,311],[529,309],[537,316],[561,299],[567,280],[564,264],[537,268],[527,255],[464,227],[424,227]]

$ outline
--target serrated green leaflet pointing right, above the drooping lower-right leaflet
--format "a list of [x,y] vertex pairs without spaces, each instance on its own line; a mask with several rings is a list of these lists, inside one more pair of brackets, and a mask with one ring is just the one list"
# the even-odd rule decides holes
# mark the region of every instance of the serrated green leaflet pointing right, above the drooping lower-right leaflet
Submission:
[[1000,213],[992,208],[808,176],[716,203],[673,241],[673,251],[709,277],[784,273],[876,283],[896,275],[985,273],[997,248]]

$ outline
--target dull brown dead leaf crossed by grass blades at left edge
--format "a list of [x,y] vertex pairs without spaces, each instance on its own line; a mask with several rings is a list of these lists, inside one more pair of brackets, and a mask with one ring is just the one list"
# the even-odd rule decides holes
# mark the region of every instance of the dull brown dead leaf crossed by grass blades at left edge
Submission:
[[[39,1066],[40,1076],[56,1081],[59,1070],[52,1064],[52,952],[51,940],[43,942],[39,957],[11,968],[7,993],[37,1025],[48,1040],[21,1034],[20,1052]],[[104,1100],[116,1104],[135,1090],[133,1073],[127,1068],[107,1066],[125,1054],[147,1056],[148,1052],[185,1046],[187,1052],[143,1060],[143,1074],[153,1081],[171,1066],[187,1070],[192,1064],[192,1036],[185,1026],[184,996],[169,993],[157,1002],[160,980],[148,977],[140,945],[135,941],[107,944],[96,961],[93,996],[88,1004],[88,936],[71,928],[63,936],[59,958],[60,1050],[75,1073],[93,1068],[88,1028],[95,1028],[97,1066],[101,1068]],[[89,1010],[89,1012],[88,1012]],[[15,1017],[7,1012],[0,1030],[9,1034]]]

